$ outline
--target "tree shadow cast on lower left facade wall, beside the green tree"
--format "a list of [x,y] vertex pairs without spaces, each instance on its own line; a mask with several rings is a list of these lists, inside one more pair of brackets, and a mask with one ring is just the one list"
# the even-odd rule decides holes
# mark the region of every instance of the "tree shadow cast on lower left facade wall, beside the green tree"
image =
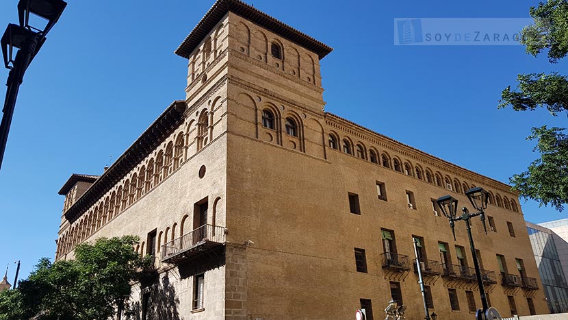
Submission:
[[179,299],[175,288],[170,283],[168,273],[162,275],[161,283],[146,286],[140,293],[140,299],[131,302],[125,319],[127,320],[181,320],[179,317]]

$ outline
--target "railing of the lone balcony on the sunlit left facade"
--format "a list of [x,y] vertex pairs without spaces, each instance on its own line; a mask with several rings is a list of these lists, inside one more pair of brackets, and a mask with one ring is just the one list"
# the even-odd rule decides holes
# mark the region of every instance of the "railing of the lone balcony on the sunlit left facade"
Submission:
[[162,262],[177,263],[214,249],[225,242],[225,228],[218,225],[202,225],[165,245],[162,245]]

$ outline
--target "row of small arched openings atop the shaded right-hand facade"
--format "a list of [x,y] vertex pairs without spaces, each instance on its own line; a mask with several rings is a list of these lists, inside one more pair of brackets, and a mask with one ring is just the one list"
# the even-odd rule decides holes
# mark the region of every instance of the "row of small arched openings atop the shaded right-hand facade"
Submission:
[[[468,186],[466,182],[460,183],[458,179],[452,179],[449,175],[443,176],[438,171],[433,173],[433,171],[429,168],[422,169],[419,164],[413,166],[409,160],[402,162],[402,160],[398,157],[391,157],[386,152],[378,153],[378,151],[370,149],[367,157],[367,148],[365,145],[362,143],[353,145],[354,144],[349,138],[342,139],[341,145],[339,145],[339,137],[337,134],[334,132],[328,134],[328,147],[331,149],[339,150],[341,147],[341,151],[351,156],[357,156],[357,158],[368,160],[387,169],[393,169],[394,171],[403,173],[404,175],[415,177],[419,180],[426,181],[429,184],[434,184],[435,186],[446,188],[456,193],[465,194],[465,191],[469,190],[469,188],[475,187],[474,184]],[[519,207],[515,200],[508,199],[506,196],[501,197],[498,193],[494,195],[491,191],[489,191],[489,204],[505,208],[507,210],[512,210],[514,212],[519,212]]]

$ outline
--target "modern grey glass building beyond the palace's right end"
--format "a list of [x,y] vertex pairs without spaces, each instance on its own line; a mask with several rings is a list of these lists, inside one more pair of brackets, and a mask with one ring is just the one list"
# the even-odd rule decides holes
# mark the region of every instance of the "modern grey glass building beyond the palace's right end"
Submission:
[[537,260],[541,282],[552,313],[568,312],[568,283],[558,251],[568,247],[568,243],[552,230],[527,222],[528,237]]

